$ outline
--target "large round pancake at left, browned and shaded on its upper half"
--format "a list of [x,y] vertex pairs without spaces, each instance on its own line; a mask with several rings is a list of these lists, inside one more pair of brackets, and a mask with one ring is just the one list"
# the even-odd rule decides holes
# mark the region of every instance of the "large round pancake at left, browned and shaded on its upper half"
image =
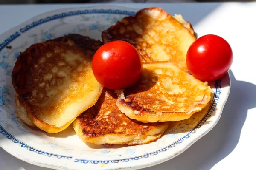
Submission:
[[64,42],[37,43],[20,54],[12,84],[33,124],[57,133],[96,103],[103,87],[93,76],[92,58],[93,51]]

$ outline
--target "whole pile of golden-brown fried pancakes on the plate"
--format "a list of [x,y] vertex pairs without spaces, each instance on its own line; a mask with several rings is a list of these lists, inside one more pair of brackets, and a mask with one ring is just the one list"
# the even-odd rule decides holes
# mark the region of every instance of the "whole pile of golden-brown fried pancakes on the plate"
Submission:
[[[26,125],[58,133],[73,122],[84,142],[145,144],[160,138],[169,121],[188,119],[210,101],[207,82],[186,67],[196,38],[181,15],[145,8],[102,31],[102,40],[69,34],[20,54],[12,83]],[[96,50],[114,40],[134,45],[143,62],[140,80],[115,91],[102,87],[91,68]]]

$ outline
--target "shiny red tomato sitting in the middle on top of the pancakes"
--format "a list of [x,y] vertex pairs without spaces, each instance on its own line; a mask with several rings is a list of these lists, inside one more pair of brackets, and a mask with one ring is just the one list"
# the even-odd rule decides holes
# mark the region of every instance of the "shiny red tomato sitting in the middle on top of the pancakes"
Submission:
[[140,54],[130,43],[113,41],[102,45],[93,57],[96,80],[110,89],[127,88],[140,79]]

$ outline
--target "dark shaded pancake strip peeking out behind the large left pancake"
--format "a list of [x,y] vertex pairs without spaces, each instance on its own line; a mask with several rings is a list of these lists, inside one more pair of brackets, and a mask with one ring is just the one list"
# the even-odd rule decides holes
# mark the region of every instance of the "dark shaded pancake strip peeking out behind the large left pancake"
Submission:
[[64,42],[70,46],[78,46],[83,49],[89,49],[95,53],[100,46],[103,45],[103,42],[100,40],[95,40],[87,36],[82,36],[79,34],[67,34],[64,37],[58,37],[47,42]]

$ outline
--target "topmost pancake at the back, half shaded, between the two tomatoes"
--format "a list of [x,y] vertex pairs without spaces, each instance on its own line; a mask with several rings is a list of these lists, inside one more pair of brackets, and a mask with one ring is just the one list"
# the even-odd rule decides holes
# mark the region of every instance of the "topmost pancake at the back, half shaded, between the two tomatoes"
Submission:
[[[184,25],[188,22],[176,16]],[[189,31],[162,8],[144,8],[136,15],[124,17],[116,25],[102,31],[102,40],[108,43],[123,40],[134,45],[142,56],[143,64],[154,62],[172,62],[182,70],[188,71],[186,53],[196,40]]]

